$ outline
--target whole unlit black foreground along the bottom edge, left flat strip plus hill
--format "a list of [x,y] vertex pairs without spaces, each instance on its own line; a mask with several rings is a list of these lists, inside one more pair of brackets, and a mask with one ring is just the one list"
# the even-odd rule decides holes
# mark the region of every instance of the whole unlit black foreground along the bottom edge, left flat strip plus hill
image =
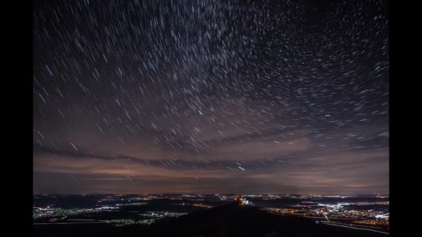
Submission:
[[[101,225],[101,224],[100,224]],[[37,227],[35,236],[386,236],[372,231],[316,224],[306,218],[276,216],[251,206],[233,204],[164,218],[150,226]],[[63,229],[65,228],[65,229]]]

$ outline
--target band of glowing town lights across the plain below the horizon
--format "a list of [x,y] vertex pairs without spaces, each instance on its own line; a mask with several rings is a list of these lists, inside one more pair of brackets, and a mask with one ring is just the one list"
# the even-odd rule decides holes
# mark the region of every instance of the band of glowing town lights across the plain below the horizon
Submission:
[[[92,207],[77,207],[88,201]],[[161,218],[178,218],[194,210],[230,203],[258,207],[276,215],[310,218],[317,224],[389,231],[388,195],[35,195],[34,204],[39,206],[33,207],[33,222],[150,225]]]

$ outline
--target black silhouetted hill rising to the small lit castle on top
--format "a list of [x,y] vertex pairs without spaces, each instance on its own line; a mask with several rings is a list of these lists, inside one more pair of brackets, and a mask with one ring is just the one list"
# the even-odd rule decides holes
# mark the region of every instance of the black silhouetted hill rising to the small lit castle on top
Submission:
[[144,236],[385,236],[372,231],[318,225],[314,220],[278,216],[259,207],[228,204],[187,216],[162,219]]

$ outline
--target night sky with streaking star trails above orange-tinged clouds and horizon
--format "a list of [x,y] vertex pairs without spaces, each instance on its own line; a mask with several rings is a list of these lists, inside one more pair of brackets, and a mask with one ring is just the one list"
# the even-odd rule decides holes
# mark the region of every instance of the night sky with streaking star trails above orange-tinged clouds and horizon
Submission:
[[379,1],[35,1],[33,193],[389,193]]

